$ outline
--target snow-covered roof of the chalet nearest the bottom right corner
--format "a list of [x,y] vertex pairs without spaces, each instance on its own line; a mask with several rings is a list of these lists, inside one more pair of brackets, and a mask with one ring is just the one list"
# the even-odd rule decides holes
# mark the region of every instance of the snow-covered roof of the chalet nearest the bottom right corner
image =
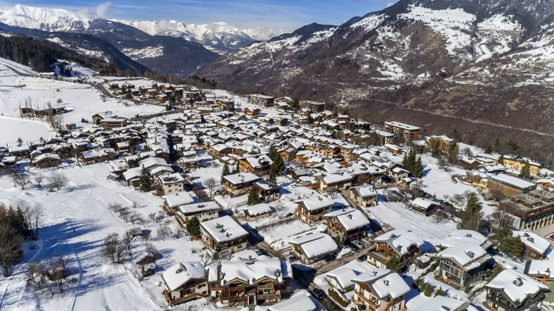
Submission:
[[519,305],[527,297],[533,297],[541,290],[548,290],[548,286],[545,284],[516,269],[504,269],[485,287],[500,290],[516,305]]

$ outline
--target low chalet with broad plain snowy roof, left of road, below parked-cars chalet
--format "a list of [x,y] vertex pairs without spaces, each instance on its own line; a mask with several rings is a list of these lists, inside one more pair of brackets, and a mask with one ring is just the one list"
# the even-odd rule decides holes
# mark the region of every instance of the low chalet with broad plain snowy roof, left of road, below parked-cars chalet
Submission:
[[289,242],[293,245],[291,252],[305,264],[319,261],[338,250],[335,240],[325,233],[311,233],[297,237]]

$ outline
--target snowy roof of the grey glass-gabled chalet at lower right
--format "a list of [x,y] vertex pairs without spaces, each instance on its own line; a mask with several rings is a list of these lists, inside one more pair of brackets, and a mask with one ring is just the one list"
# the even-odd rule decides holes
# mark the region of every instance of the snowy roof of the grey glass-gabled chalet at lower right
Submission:
[[[490,255],[479,244],[459,241],[437,254],[438,257],[450,258],[464,266],[466,271],[479,267],[490,259]],[[469,265],[469,266],[468,266]]]

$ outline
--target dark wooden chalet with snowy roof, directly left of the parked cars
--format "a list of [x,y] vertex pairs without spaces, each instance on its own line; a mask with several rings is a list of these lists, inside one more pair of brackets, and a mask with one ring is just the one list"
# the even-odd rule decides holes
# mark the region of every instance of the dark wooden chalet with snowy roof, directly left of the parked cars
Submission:
[[327,233],[340,238],[341,241],[353,241],[367,236],[370,221],[356,208],[342,208],[326,213],[323,218],[327,225]]

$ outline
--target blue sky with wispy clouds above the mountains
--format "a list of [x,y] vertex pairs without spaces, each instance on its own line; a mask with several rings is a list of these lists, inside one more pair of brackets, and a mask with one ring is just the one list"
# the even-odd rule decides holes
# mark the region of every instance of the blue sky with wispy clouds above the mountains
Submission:
[[264,26],[290,32],[306,24],[341,24],[353,16],[378,11],[397,0],[0,0],[4,5],[65,8],[105,18],[130,20],[175,19],[187,24],[227,22],[235,26]]

